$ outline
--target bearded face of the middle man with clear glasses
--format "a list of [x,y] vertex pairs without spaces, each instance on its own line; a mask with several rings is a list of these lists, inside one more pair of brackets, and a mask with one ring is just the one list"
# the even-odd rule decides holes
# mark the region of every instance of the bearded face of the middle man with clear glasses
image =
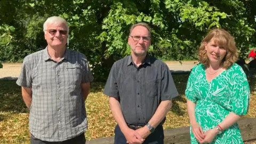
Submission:
[[[141,37],[138,41],[134,37]],[[144,37],[144,38],[142,38]],[[144,40],[143,40],[144,39]],[[128,38],[128,44],[131,46],[132,54],[139,57],[146,55],[151,44],[149,31],[146,27],[136,26]]]

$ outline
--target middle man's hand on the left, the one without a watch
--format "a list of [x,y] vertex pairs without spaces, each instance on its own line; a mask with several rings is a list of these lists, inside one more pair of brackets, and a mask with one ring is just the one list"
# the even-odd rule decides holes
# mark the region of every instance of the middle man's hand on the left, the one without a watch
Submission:
[[127,140],[127,143],[131,144],[141,144],[145,139],[142,139],[141,135],[132,129],[127,129],[124,133],[124,137]]

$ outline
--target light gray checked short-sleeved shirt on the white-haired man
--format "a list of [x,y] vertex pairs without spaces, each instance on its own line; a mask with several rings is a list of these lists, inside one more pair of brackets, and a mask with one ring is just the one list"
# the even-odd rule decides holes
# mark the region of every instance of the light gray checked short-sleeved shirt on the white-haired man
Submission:
[[86,57],[66,50],[59,62],[44,50],[25,57],[17,84],[32,89],[29,129],[44,141],[63,141],[87,129],[81,84],[93,80]]

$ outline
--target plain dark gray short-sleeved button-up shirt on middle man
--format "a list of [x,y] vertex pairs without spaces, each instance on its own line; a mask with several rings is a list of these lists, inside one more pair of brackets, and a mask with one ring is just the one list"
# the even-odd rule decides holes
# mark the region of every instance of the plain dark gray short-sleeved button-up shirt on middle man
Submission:
[[179,95],[167,65],[149,55],[139,67],[131,55],[116,61],[103,93],[120,99],[124,119],[129,124],[147,124],[161,101]]

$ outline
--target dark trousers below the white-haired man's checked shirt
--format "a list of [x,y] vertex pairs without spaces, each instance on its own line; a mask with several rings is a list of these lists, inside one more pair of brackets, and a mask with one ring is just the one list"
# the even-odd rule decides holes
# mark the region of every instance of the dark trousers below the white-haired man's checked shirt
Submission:
[[31,144],[85,144],[86,140],[85,140],[85,136],[84,136],[84,132],[80,135],[78,135],[75,138],[69,139],[69,140],[65,140],[65,141],[43,141],[43,140],[39,140],[37,138],[34,137],[34,135],[31,134],[31,138],[30,138],[30,143]]

